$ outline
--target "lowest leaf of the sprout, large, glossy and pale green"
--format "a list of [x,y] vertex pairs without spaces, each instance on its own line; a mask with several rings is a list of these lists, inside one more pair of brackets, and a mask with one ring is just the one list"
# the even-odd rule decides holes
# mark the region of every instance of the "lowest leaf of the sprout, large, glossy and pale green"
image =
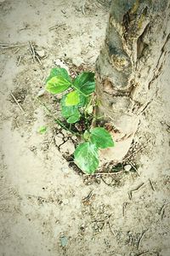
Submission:
[[99,166],[98,148],[93,143],[80,144],[74,152],[74,158],[82,172],[88,174],[94,173]]

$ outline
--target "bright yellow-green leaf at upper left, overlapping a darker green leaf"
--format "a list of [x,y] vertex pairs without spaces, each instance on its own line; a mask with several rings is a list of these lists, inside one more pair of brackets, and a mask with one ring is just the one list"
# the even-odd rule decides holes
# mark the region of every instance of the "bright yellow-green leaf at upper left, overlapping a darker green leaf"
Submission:
[[71,87],[71,82],[64,79],[61,75],[53,77],[48,80],[46,84],[46,90],[48,90],[52,94],[57,94],[59,92],[63,92]]

